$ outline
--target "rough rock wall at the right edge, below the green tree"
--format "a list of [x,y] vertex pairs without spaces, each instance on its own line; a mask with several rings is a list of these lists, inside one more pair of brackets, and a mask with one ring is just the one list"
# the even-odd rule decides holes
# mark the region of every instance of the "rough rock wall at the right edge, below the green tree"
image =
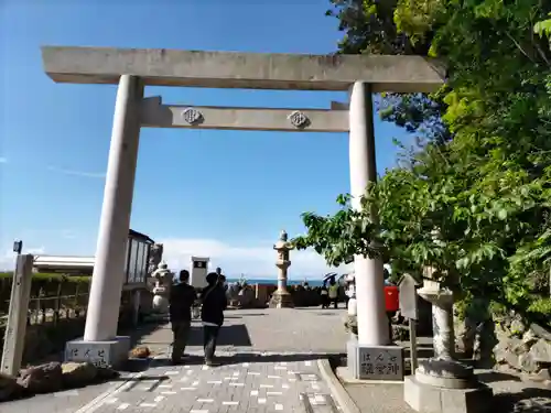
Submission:
[[551,380],[551,332],[542,326],[525,325],[520,317],[496,323],[494,356],[503,370],[511,369],[536,380]]

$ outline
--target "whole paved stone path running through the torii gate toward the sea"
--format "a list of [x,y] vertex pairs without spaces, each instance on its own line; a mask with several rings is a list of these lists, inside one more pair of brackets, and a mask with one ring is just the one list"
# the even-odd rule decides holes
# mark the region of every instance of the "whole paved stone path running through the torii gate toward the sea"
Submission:
[[217,351],[224,366],[206,370],[198,323],[193,323],[186,350],[194,357],[181,367],[171,367],[165,359],[172,332],[170,325],[161,326],[139,339],[155,359],[128,382],[2,403],[0,412],[336,413],[316,360],[345,350],[344,314],[344,309],[318,308],[228,311]]

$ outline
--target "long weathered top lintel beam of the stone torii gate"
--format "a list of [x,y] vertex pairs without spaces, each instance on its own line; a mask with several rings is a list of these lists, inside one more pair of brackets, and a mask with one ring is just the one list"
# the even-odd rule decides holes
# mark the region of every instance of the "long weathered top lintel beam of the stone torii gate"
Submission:
[[155,86],[347,90],[363,80],[374,91],[431,93],[445,73],[421,56],[43,46],[42,59],[54,81],[74,84],[117,84],[125,74]]

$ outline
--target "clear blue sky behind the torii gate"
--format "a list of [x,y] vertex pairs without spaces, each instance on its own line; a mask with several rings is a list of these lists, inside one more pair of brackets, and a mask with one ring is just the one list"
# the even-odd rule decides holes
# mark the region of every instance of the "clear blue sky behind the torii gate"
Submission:
[[[47,3],[47,6],[45,4]],[[51,6],[55,4],[55,6]],[[29,251],[95,251],[115,86],[54,84],[40,45],[331,53],[342,33],[327,0],[0,0],[0,268],[12,241]],[[165,104],[327,108],[343,93],[148,87]],[[376,117],[378,170],[396,163]],[[165,243],[174,268],[212,257],[230,275],[273,275],[279,231],[300,214],[328,213],[347,192],[342,133],[143,129],[131,227]],[[294,253],[292,278],[321,275],[323,260]]]

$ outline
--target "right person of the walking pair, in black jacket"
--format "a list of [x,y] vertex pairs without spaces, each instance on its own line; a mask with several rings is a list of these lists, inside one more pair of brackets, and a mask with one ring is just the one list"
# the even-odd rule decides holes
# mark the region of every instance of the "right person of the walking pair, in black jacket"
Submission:
[[216,272],[210,272],[206,276],[208,286],[203,290],[201,301],[201,319],[203,322],[203,348],[205,349],[205,365],[214,366],[214,354],[216,351],[216,340],[224,324],[224,311],[228,302],[226,292],[220,284],[220,276]]

